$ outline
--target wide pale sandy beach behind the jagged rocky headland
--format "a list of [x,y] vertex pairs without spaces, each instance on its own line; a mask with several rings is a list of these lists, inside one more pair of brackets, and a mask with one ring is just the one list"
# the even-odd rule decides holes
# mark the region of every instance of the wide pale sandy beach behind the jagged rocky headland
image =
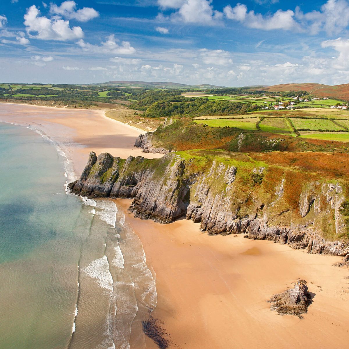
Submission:
[[139,134],[134,126],[107,118],[103,110],[75,110],[25,104],[0,103],[0,121],[33,126],[57,142],[74,163],[80,176],[90,151],[108,152],[126,158],[130,155],[149,158],[162,154],[145,154],[134,147]]

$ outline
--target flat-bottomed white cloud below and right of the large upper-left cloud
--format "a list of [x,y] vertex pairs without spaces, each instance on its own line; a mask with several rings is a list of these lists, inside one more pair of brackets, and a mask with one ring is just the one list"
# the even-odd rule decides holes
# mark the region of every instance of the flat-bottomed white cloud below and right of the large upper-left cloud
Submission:
[[128,41],[122,41],[121,44],[117,44],[118,39],[115,35],[109,35],[105,42],[101,45],[92,45],[84,42],[84,40],[79,40],[77,44],[81,47],[83,51],[93,52],[93,53],[106,53],[106,54],[133,54],[136,52],[135,48],[131,46]]

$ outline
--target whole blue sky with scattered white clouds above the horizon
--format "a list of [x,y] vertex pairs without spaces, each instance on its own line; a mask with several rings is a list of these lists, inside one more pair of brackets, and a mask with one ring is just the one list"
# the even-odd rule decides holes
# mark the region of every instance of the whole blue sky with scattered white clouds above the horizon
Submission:
[[349,0],[0,2],[0,82],[349,82]]

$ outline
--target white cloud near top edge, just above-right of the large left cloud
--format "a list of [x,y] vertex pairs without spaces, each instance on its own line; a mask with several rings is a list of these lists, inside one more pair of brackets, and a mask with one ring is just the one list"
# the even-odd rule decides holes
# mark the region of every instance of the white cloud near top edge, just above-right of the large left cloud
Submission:
[[68,18],[69,20],[75,19],[80,22],[87,22],[93,18],[99,16],[99,13],[92,7],[84,7],[82,9],[76,9],[75,1],[64,1],[60,6],[55,3],[50,3],[50,12]]

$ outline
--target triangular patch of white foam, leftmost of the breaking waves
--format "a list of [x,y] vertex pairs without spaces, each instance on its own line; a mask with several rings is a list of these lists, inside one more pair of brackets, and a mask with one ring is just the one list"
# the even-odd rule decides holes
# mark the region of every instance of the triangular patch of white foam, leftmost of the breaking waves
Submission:
[[81,270],[92,279],[95,279],[99,287],[113,291],[113,278],[109,271],[109,262],[106,255],[92,261],[87,267]]

